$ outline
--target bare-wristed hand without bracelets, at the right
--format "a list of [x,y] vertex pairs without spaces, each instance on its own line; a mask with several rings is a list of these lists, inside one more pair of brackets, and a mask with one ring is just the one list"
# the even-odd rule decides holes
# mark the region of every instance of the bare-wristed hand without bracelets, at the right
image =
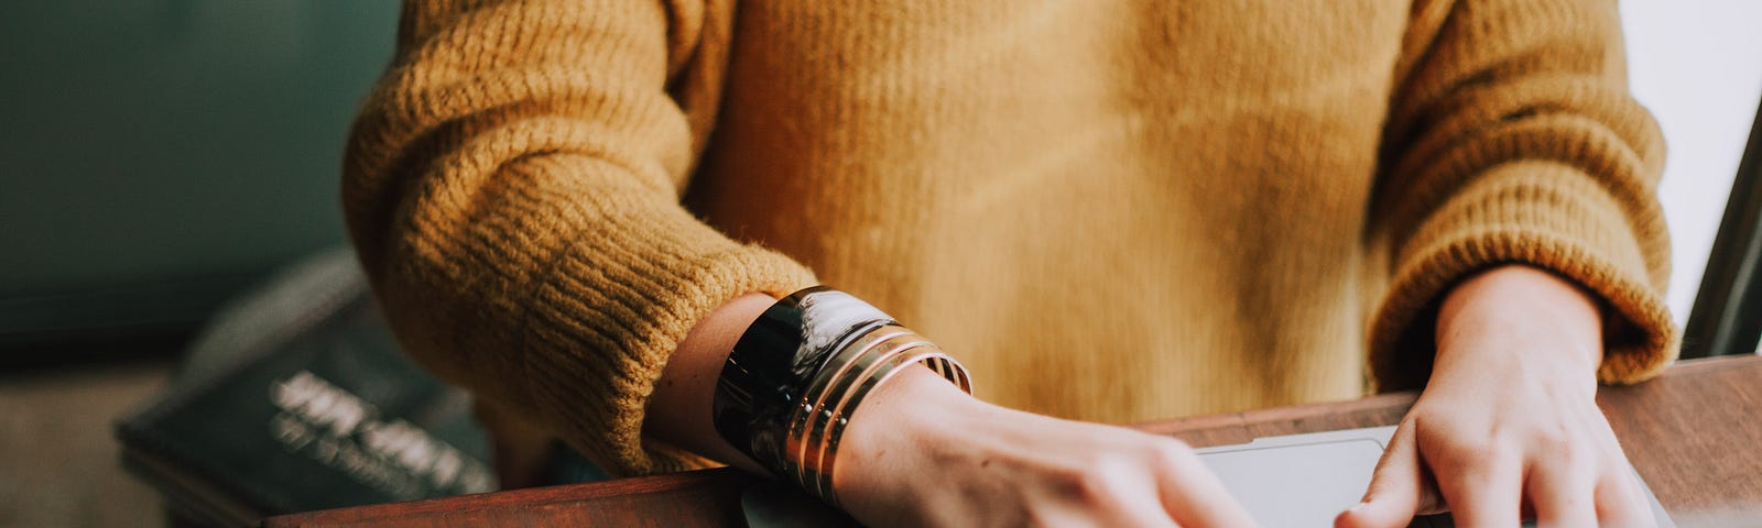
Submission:
[[1598,310],[1572,283],[1526,266],[1464,282],[1440,308],[1425,391],[1334,524],[1448,510],[1457,526],[1651,526],[1596,408],[1602,354]]

